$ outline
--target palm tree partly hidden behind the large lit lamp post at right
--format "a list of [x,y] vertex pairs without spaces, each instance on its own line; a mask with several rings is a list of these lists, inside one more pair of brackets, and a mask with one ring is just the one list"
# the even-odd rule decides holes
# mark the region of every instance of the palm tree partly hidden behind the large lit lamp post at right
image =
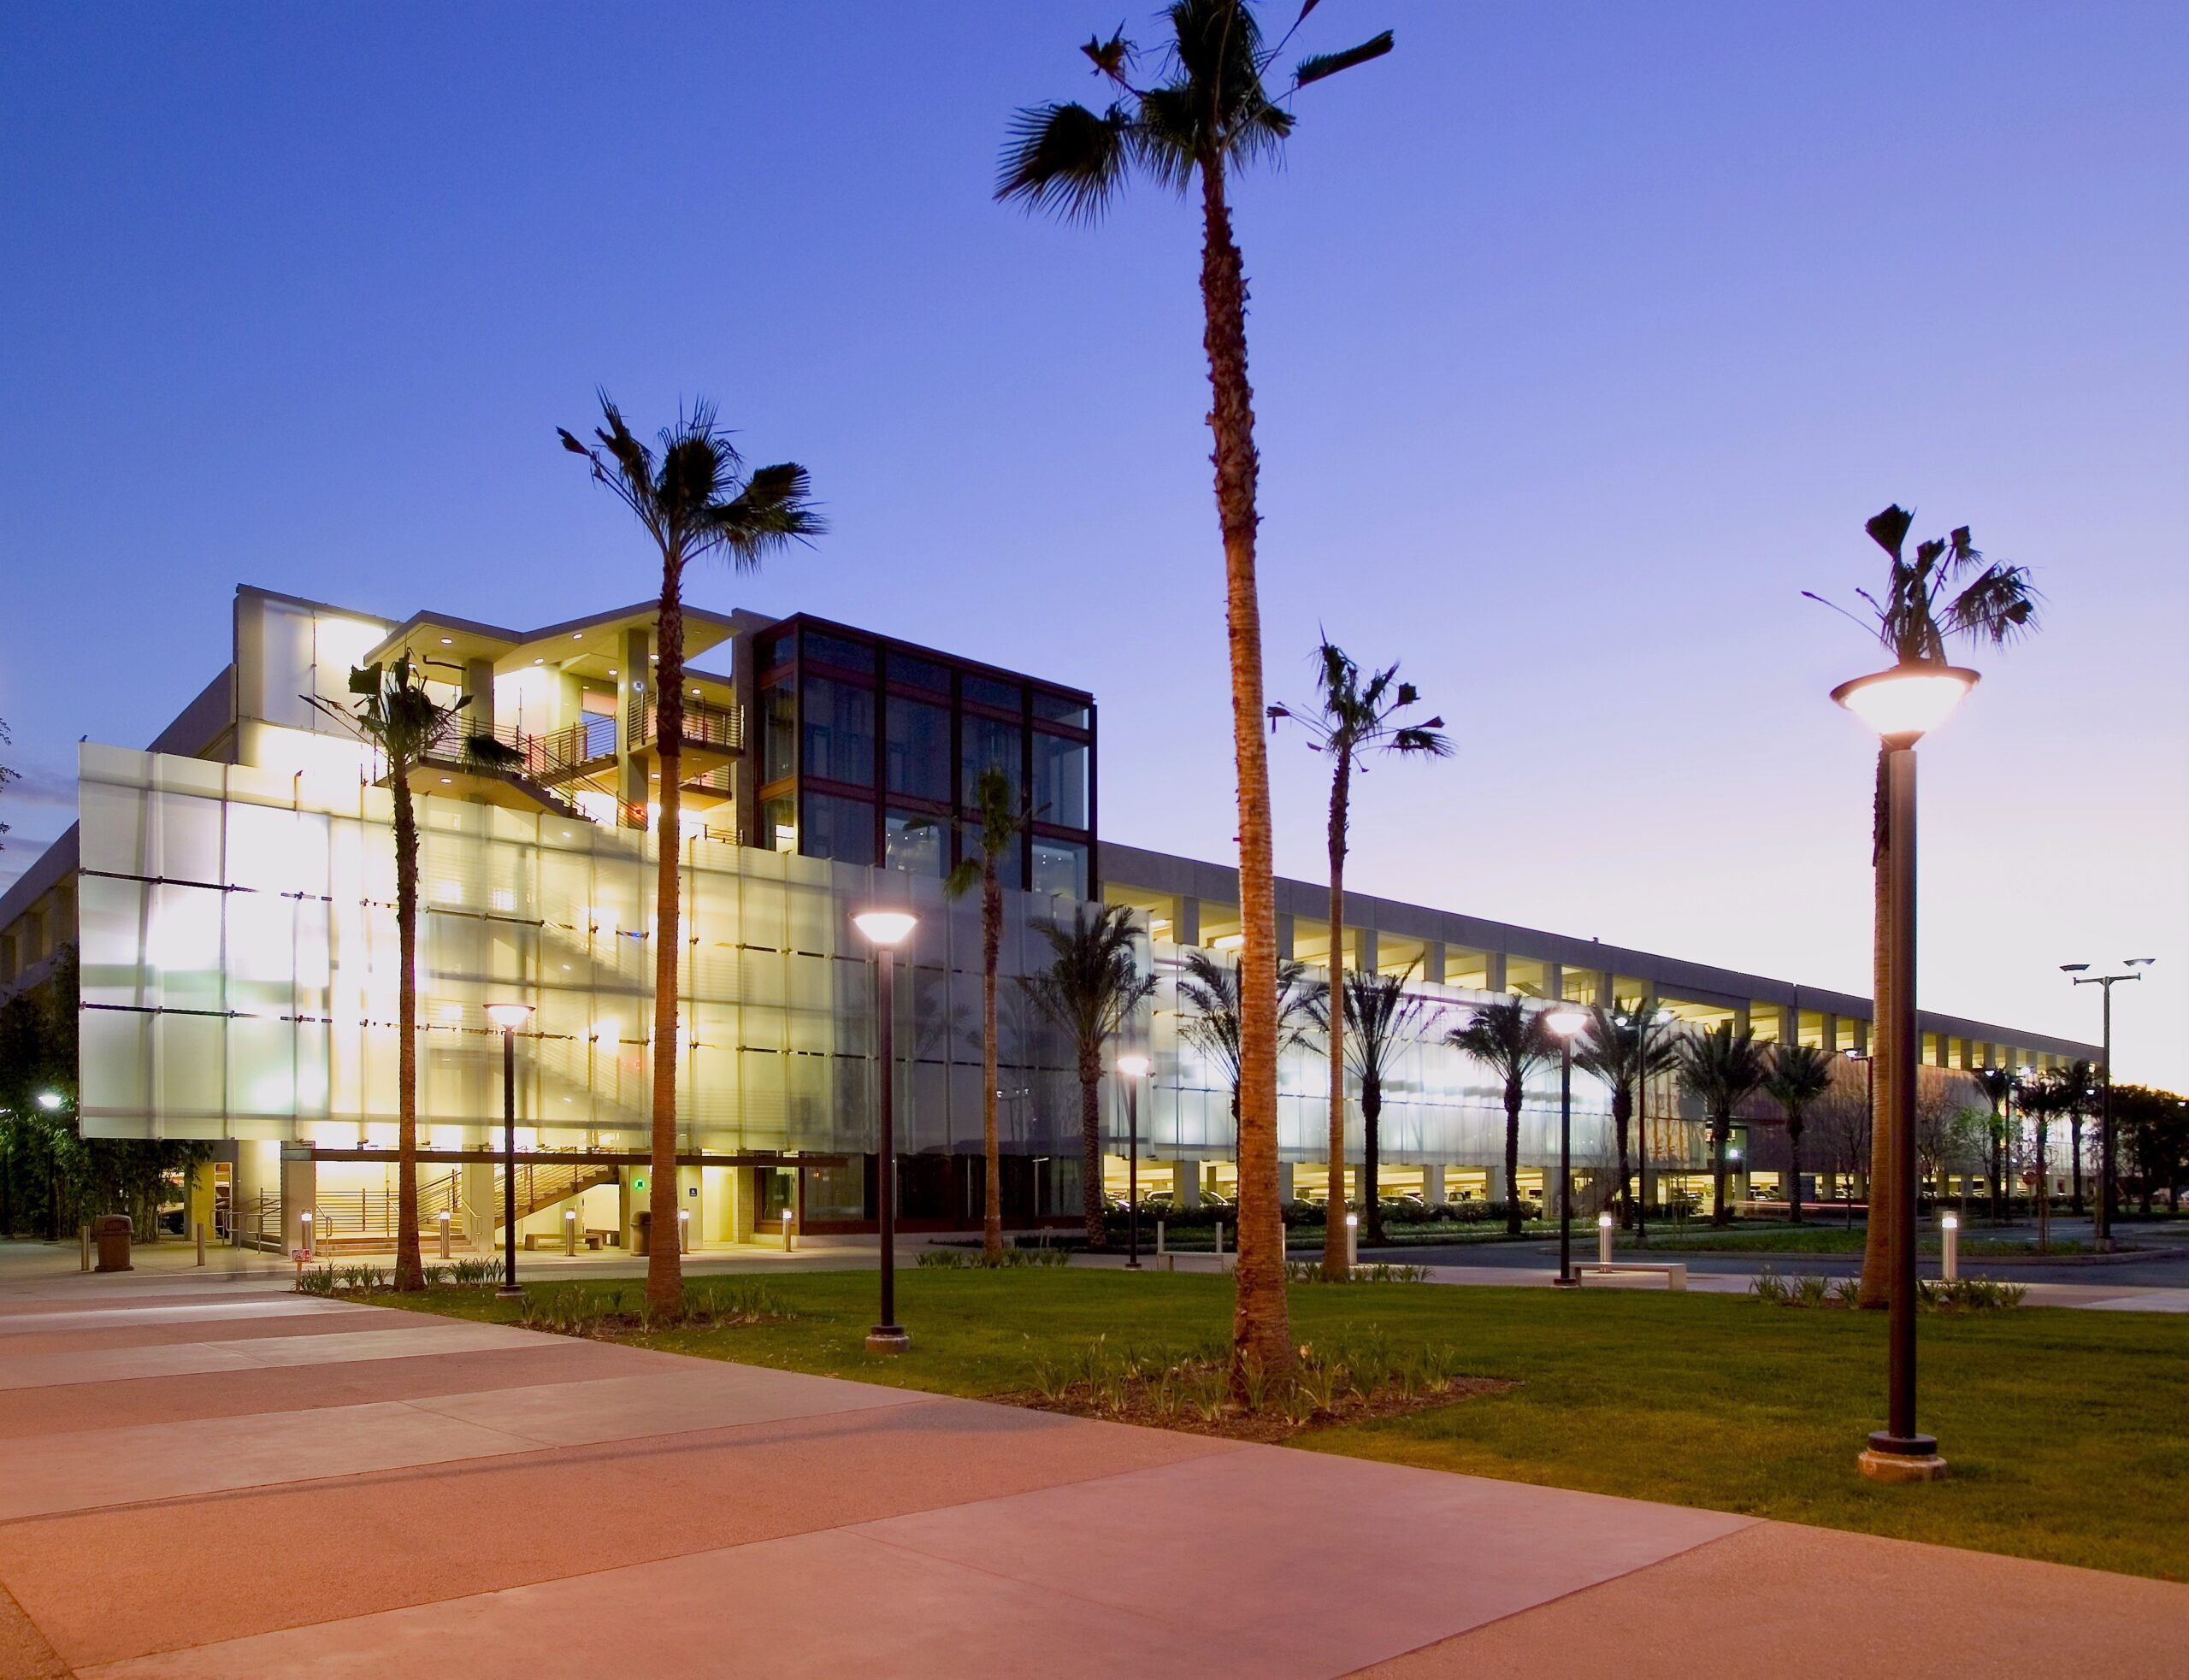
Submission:
[[[1845,608],[1826,602],[1821,595],[1802,591],[1812,602],[1832,606],[1834,612],[1869,630],[1898,665],[1944,665],[1946,650],[1955,639],[2003,648],[2020,634],[2038,628],[2038,593],[2029,582],[2027,567],[2007,567],[1985,560],[1968,534],[1968,525],[1955,527],[1942,538],[1915,545],[1909,560],[1907,536],[1915,514],[1893,503],[1880,514],[1872,514],[1863,529],[1891,558],[1880,602],[1867,588],[1856,595],[1869,606],[1869,619],[1861,619]],[[1893,1019],[1900,1002],[1891,995],[1887,973],[1891,954],[1891,877],[1893,860],[1887,851],[1885,833],[1885,774],[1891,761],[1891,746],[1878,742],[1876,794],[1872,798],[1872,941],[1869,941],[1869,984],[1872,1019],[1878,1032],[1872,1035],[1872,1102],[1893,1089],[1898,1076],[1891,1065],[1891,1035],[1883,1026]],[[1893,1140],[1887,1127],[1869,1127],[1869,1227],[1863,1238],[1863,1282],[1858,1299],[1863,1306],[1885,1306],[1891,1293],[1891,1199],[1900,1194],[1891,1175]]]

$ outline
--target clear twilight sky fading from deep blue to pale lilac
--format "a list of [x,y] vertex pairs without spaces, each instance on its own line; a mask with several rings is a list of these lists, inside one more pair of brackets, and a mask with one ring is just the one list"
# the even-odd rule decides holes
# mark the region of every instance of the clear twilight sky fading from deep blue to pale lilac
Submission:
[[[1143,26],[1147,0],[1127,9]],[[1274,15],[1274,11],[1272,11]],[[1081,0],[0,11],[0,877],[236,582],[545,623],[652,593],[554,444],[703,392],[834,532],[694,599],[1097,691],[1110,838],[1235,831],[1197,223],[989,201]],[[2045,632],[1924,761],[1922,1000],[2189,1089],[2189,9],[1333,0],[1399,50],[1239,186],[1272,698],[1318,626],[1458,735],[1362,890],[1867,993],[1867,514]],[[1147,31],[1143,28],[1143,35]],[[1324,763],[1276,744],[1278,866]]]

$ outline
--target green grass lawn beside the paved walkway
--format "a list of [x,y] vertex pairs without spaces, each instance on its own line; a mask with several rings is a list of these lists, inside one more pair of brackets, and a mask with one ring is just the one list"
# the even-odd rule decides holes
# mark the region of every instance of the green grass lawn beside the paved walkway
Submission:
[[[707,1358],[935,1393],[1024,1391],[1042,1352],[1094,1337],[1221,1345],[1230,1284],[1094,1269],[900,1271],[904,1358],[862,1350],[873,1273],[786,1273],[786,1323],[635,1337]],[[637,1282],[549,1284],[622,1288]],[[488,1291],[379,1302],[514,1321]],[[2189,1575],[2189,1326],[2018,1308],[1922,1319],[1922,1422],[1953,1479],[1885,1488],[1854,1457],[1883,1424],[1885,1315],[1727,1295],[1434,1284],[1296,1286],[1294,1334],[1451,1345],[1519,1387],[1309,1431],[1294,1446],[1508,1481],[1817,1522],[2163,1579]]]

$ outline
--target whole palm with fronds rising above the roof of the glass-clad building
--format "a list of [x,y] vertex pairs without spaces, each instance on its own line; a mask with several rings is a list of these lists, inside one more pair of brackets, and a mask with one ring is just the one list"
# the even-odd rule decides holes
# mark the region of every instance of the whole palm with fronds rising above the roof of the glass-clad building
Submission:
[[[714,405],[694,402],[674,427],[663,427],[648,448],[624,424],[622,411],[600,394],[604,427],[582,444],[560,427],[571,455],[584,455],[593,481],[606,486],[646,527],[661,551],[661,612],[655,623],[655,755],[661,770],[659,862],[655,871],[655,1092],[652,1175],[648,1212],[655,1240],[646,1249],[646,1302],[657,1312],[683,1306],[683,1256],[676,1238],[676,956],[679,822],[683,805],[683,573],[694,560],[727,556],[738,571],[790,542],[821,534],[812,483],[795,462],[744,470],[729,433],[716,427]],[[644,674],[639,674],[644,676]],[[633,676],[633,689],[639,687]]]

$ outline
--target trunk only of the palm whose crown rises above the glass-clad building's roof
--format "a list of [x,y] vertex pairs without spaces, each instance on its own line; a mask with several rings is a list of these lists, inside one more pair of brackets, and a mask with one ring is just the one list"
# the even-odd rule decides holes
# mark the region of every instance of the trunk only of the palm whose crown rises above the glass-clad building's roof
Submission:
[[[683,575],[661,567],[661,669],[655,676],[655,757],[661,766],[661,822],[655,873],[655,1135],[646,1186],[646,1302],[657,1312],[683,1306],[683,1242],[676,1218],[676,956],[683,949]],[[644,713],[641,713],[644,715]]]

